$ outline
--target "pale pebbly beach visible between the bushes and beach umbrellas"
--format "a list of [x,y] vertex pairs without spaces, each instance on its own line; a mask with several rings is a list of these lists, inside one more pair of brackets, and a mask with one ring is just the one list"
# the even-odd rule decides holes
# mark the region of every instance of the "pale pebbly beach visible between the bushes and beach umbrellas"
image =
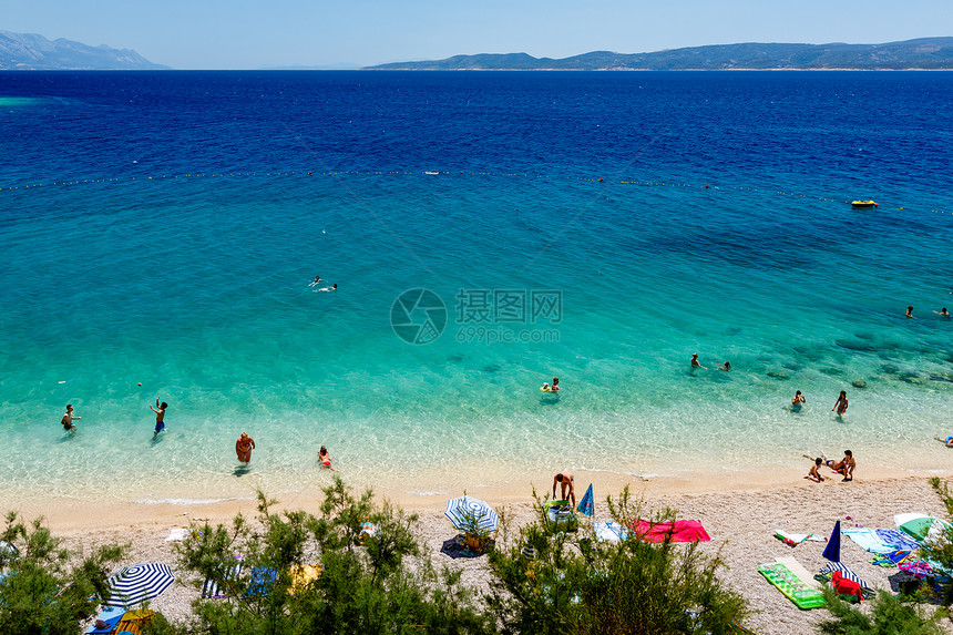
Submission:
[[[828,470],[823,472],[826,475]],[[324,478],[326,474],[321,474]],[[949,474],[941,474],[949,478]],[[578,479],[577,481],[587,479]],[[749,626],[757,633],[799,634],[813,633],[814,626],[829,614],[823,610],[800,611],[758,573],[757,566],[779,556],[793,556],[806,569],[817,572],[826,562],[821,557],[824,544],[807,542],[790,547],[773,537],[776,530],[791,533],[830,535],[834,521],[842,526],[893,528],[893,515],[903,512],[925,512],[943,515],[944,509],[929,483],[929,477],[877,478],[844,483],[839,479],[823,483],[806,480],[765,485],[757,480],[737,480],[735,487],[725,482],[699,482],[688,487],[654,481],[631,482],[634,494],[645,499],[648,509],[669,506],[680,519],[700,520],[711,536],[703,543],[707,553],[721,551],[727,569],[723,578],[748,598],[756,614]],[[585,485],[580,485],[583,490]],[[693,490],[693,491],[686,491]],[[616,493],[618,490],[608,490]],[[605,495],[608,491],[596,487],[595,518],[607,520]],[[530,492],[470,492],[505,509],[515,525],[533,518]],[[541,488],[540,493],[543,493]],[[493,494],[493,495],[485,495]],[[464,583],[476,588],[485,585],[489,569],[485,557],[451,560],[440,553],[443,541],[455,531],[443,516],[445,496],[408,496],[398,492],[385,495],[409,511],[420,515],[420,533],[426,552],[440,566],[463,570]],[[577,492],[582,495],[582,491]],[[317,512],[321,495],[317,488],[307,493],[277,496],[281,506]],[[174,528],[202,523],[206,519],[223,522],[236,512],[255,514],[253,500],[232,500],[211,504],[134,504],[88,502],[33,501],[20,508],[24,518],[44,515],[55,535],[65,539],[73,549],[89,550],[103,542],[130,543],[131,550],[123,564],[164,562],[173,565],[177,581],[158,597],[153,607],[172,621],[185,621],[197,591],[189,585],[189,575],[176,566],[174,543],[165,539]],[[849,518],[849,519],[848,519]],[[841,560],[861,577],[880,588],[890,588],[888,576],[893,569],[870,563],[871,554],[850,540],[842,541]]]

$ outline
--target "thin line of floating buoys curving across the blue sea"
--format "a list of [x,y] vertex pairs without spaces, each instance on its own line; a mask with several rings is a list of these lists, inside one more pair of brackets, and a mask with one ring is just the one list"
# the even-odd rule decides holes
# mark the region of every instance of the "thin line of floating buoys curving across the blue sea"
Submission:
[[[808,198],[808,199],[817,199],[822,203],[834,203],[834,204],[846,204],[851,205],[851,199],[837,199],[837,198],[828,198],[824,196],[813,196],[808,194],[798,194],[793,192],[786,192],[782,190],[768,190],[768,188],[759,188],[759,187],[746,187],[739,185],[711,185],[711,184],[691,184],[691,183],[668,183],[662,181],[605,181],[600,176],[549,176],[545,174],[529,174],[521,172],[453,172],[449,170],[444,171],[389,171],[389,172],[376,172],[376,171],[327,171],[327,172],[317,172],[317,171],[290,171],[290,172],[218,172],[218,173],[195,173],[195,174],[173,174],[173,175],[162,175],[162,176],[126,176],[126,177],[114,177],[114,178],[76,178],[73,181],[54,181],[52,183],[31,183],[27,185],[12,185],[9,187],[0,187],[0,194],[2,193],[11,193],[16,191],[24,191],[24,190],[33,190],[38,187],[52,187],[52,186],[82,186],[82,185],[93,185],[93,184],[102,184],[102,183],[132,183],[132,182],[148,182],[148,181],[164,181],[164,180],[191,180],[191,178],[240,178],[240,177],[275,177],[275,176],[424,176],[427,178],[431,178],[434,176],[496,176],[496,177],[524,177],[524,178],[534,178],[534,180],[563,180],[563,181],[578,181],[578,182],[588,182],[588,183],[597,183],[603,185],[612,185],[615,183],[616,185],[638,185],[638,186],[653,186],[653,187],[682,187],[682,188],[694,188],[694,190],[724,190],[724,191],[736,191],[736,192],[758,192],[764,194],[778,194],[781,196],[789,196],[792,198]],[[874,205],[879,212],[883,211],[898,211],[898,212],[915,212],[915,209],[910,209],[908,207],[892,207],[884,205]],[[944,209],[930,209],[931,214],[946,214]],[[953,216],[953,212],[951,212],[951,216]]]

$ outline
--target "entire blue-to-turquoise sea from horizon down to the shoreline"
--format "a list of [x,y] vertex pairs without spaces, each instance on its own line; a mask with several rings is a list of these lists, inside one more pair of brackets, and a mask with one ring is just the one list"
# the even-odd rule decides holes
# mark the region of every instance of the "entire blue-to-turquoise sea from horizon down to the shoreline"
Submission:
[[0,73],[0,496],[298,491],[320,444],[408,492],[949,469],[951,104],[945,72]]

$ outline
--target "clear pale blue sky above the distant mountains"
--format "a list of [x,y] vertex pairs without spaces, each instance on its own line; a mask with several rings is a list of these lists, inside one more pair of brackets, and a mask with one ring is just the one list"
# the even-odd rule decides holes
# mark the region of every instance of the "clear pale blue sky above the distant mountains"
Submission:
[[176,69],[953,35],[951,0],[3,0],[0,7],[0,29],[134,49]]

